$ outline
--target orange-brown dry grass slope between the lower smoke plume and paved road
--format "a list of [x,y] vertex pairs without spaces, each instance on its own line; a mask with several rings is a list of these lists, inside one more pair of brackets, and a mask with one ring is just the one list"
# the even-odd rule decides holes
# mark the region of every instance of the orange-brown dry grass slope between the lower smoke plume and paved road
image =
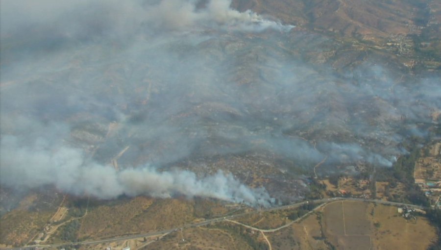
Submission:
[[[79,221],[78,239],[104,239],[182,226],[197,218],[209,218],[236,210],[210,199],[91,200],[87,215]],[[58,230],[59,231],[59,230]],[[60,232],[50,237],[59,242]]]

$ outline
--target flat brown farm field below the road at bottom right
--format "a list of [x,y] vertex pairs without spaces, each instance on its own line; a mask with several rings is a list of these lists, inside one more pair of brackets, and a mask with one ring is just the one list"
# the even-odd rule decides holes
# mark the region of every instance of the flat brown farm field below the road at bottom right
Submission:
[[436,229],[424,217],[406,220],[395,206],[335,201],[323,215],[324,235],[340,250],[424,250],[436,240]]

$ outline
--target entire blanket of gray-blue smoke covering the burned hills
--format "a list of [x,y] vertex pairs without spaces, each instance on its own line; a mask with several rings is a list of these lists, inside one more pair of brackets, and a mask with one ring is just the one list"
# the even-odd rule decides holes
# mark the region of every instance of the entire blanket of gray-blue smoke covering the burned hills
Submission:
[[269,205],[231,174],[165,166],[270,151],[389,167],[406,136],[428,133],[418,124],[439,122],[439,77],[400,80],[374,61],[337,74],[299,55],[325,39],[229,5],[1,1],[1,184]]

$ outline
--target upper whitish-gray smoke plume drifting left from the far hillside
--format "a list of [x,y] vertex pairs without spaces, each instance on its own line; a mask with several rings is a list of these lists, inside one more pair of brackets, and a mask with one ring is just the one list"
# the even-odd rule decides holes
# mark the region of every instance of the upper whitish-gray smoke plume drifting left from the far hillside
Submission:
[[1,1],[1,33],[7,36],[17,29],[47,25],[54,32],[51,36],[74,39],[97,33],[133,35],[140,31],[139,26],[156,28],[158,32],[206,28],[246,32],[270,28],[288,32],[294,27],[251,10],[233,10],[231,0],[208,0],[205,6],[196,5],[195,0],[5,0]]

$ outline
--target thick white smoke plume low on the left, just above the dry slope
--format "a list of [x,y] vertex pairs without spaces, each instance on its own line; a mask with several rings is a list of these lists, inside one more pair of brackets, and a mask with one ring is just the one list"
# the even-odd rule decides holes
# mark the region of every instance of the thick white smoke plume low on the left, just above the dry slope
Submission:
[[88,162],[81,150],[53,147],[44,139],[25,146],[15,136],[1,139],[1,184],[13,188],[54,185],[74,195],[113,199],[120,195],[148,195],[170,198],[175,195],[206,197],[256,206],[269,206],[265,189],[246,187],[231,174],[218,171],[198,178],[185,170],[159,172],[151,166],[117,171],[110,165]]

